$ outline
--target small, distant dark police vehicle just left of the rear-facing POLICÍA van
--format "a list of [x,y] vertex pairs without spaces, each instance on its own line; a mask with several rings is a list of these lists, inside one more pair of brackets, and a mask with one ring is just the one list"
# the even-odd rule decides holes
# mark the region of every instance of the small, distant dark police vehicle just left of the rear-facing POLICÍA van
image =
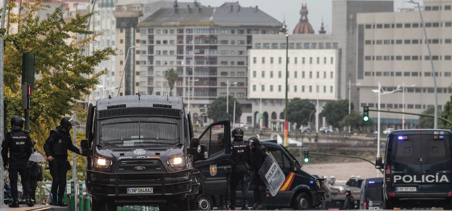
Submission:
[[361,199],[359,209],[383,209],[382,187],[383,178],[374,177],[363,180],[361,184]]

